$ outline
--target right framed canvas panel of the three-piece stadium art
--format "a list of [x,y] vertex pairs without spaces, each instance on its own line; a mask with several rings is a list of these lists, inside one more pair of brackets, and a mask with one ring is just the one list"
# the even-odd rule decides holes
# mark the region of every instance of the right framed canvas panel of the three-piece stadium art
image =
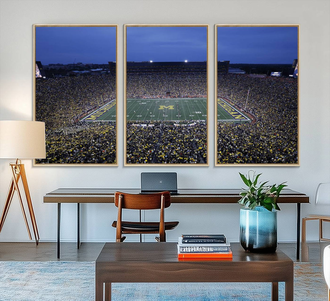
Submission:
[[299,25],[215,25],[215,165],[299,166]]

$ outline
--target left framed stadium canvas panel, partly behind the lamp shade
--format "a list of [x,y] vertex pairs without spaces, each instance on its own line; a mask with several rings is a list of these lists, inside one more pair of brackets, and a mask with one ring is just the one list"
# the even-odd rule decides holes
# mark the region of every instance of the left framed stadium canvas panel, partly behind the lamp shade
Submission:
[[46,159],[117,166],[117,25],[34,25],[34,119]]

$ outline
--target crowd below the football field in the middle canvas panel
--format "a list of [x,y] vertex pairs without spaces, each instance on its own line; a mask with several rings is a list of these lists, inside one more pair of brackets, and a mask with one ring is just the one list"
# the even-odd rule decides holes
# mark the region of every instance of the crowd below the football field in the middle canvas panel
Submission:
[[206,132],[202,121],[128,121],[126,163],[206,163]]

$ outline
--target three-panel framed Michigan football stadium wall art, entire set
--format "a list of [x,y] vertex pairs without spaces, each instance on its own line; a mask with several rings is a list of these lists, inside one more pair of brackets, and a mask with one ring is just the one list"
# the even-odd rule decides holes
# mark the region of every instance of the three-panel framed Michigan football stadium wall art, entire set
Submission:
[[118,87],[117,25],[34,25],[35,165],[117,166],[119,141],[125,166],[299,165],[299,25],[215,25],[215,99],[208,25],[125,25],[123,51]]

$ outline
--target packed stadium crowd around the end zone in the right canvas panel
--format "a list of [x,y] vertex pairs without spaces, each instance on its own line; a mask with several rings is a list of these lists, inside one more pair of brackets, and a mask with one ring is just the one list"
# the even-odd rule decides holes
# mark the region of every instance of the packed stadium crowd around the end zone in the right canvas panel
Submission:
[[257,116],[253,124],[217,123],[218,163],[297,163],[297,80],[218,74],[218,97],[224,96]]

